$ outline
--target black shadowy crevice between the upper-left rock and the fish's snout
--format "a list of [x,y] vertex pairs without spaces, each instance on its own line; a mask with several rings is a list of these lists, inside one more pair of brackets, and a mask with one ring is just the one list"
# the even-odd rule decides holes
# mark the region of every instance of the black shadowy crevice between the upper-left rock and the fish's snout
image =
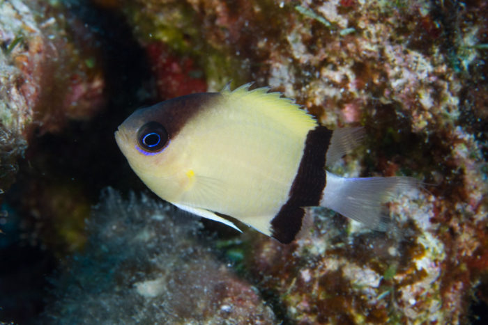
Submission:
[[[130,26],[121,13],[87,1],[65,1],[64,5],[68,27],[70,22],[81,21],[93,34],[91,39],[95,41],[89,46],[102,60],[107,104],[91,120],[70,121],[58,134],[36,136],[34,132],[26,158],[20,161],[17,183],[6,198],[13,216],[8,217],[8,224],[2,225],[3,230],[12,227],[9,239],[3,240],[3,237],[0,247],[1,263],[8,266],[0,271],[0,321],[3,322],[35,322],[46,303],[45,279],[60,261],[54,259],[42,239],[43,236],[53,236],[52,227],[56,226],[52,225],[55,219],[49,213],[49,203],[38,203],[39,207],[37,203],[26,206],[26,202],[42,200],[41,194],[52,187],[61,189],[62,199],[73,205],[80,198],[88,198],[87,206],[96,203],[101,189],[108,185],[133,189],[127,185],[130,183],[140,184],[143,188],[117,148],[114,131],[137,106],[145,100],[153,100],[139,96],[140,90],[151,84],[146,54],[132,37]],[[68,31],[73,33],[71,37],[81,38],[74,42],[84,42],[84,35],[75,35],[74,29]],[[145,90],[152,93],[150,88]],[[79,196],[75,196],[78,192],[72,189],[79,190]],[[22,224],[17,219],[22,220]],[[16,222],[19,224],[15,227],[11,225]],[[33,241],[33,234],[40,239]],[[61,249],[57,253],[62,256],[69,252]],[[17,270],[29,270],[29,276],[22,276]],[[6,294],[12,290],[15,294]]]

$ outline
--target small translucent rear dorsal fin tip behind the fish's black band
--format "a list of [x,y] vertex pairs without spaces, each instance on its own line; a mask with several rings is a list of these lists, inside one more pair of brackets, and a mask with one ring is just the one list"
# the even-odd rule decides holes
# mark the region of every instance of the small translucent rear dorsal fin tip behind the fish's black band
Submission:
[[364,136],[365,129],[363,127],[335,129],[332,138],[330,138],[330,145],[326,155],[326,165],[332,165],[337,159],[344,156],[344,154],[351,152],[360,144]]

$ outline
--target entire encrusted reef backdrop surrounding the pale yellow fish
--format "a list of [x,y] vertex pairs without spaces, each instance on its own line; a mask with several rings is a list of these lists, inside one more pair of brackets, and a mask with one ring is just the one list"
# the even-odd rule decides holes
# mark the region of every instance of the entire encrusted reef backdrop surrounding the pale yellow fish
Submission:
[[[5,0],[0,47],[0,321],[485,324],[488,1]],[[363,125],[331,171],[425,182],[398,234],[310,209],[286,246],[139,195],[116,127],[229,81]]]

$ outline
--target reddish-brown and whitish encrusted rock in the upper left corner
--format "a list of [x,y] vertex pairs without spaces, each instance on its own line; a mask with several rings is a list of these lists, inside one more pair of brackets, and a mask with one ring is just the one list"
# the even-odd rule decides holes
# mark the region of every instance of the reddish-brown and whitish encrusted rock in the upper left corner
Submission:
[[[54,2],[53,2],[54,3]],[[105,102],[96,49],[46,1],[0,3],[0,189],[13,183],[34,129],[59,132],[70,119],[94,116]],[[70,24],[71,26],[67,26]]]

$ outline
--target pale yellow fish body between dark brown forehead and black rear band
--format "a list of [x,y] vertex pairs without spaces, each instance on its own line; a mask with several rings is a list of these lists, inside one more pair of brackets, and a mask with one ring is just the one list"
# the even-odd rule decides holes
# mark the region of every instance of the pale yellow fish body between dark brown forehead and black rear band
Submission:
[[132,150],[133,139],[129,145],[117,141],[130,151],[124,154],[135,173],[161,198],[233,216],[269,235],[270,220],[289,198],[305,138],[317,122],[266,91],[224,90],[160,154]]

